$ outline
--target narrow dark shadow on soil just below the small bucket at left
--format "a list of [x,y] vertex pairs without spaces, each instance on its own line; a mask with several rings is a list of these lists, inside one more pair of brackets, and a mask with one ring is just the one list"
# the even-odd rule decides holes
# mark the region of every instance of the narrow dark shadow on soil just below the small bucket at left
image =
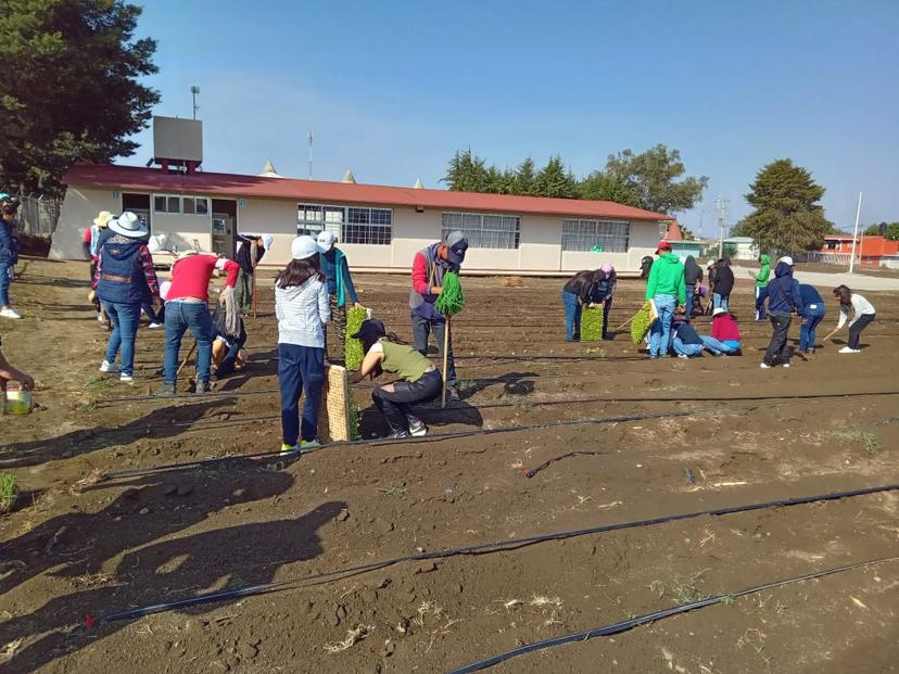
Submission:
[[126,446],[150,433],[153,434],[154,440],[179,435],[183,432],[183,428],[175,425],[173,421],[197,421],[207,411],[223,405],[230,405],[230,400],[220,398],[174,408],[168,406],[154,409],[139,419],[118,427],[71,431],[59,437],[13,443],[0,450],[0,469],[36,466],[45,461],[81,456],[106,447]]

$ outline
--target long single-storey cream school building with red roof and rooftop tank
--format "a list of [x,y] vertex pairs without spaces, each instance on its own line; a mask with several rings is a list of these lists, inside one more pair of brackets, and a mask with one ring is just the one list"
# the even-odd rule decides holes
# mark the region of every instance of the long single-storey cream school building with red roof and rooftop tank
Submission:
[[[101,211],[132,211],[163,249],[226,256],[235,233],[270,233],[265,266],[283,266],[302,233],[332,231],[354,269],[407,272],[415,253],[453,230],[469,240],[466,274],[568,274],[612,263],[637,271],[668,216],[607,201],[481,194],[199,170],[199,122],[154,118],[153,167],[76,165],[50,255],[81,259],[81,237]],[[160,234],[162,234],[160,237]],[[155,254],[168,262],[165,254]]]

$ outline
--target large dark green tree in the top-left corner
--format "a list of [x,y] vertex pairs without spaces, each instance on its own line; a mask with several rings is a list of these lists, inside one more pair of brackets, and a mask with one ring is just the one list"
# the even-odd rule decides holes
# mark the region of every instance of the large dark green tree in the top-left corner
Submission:
[[122,0],[8,0],[0,9],[0,186],[59,193],[75,162],[134,154],[159,93],[156,42]]

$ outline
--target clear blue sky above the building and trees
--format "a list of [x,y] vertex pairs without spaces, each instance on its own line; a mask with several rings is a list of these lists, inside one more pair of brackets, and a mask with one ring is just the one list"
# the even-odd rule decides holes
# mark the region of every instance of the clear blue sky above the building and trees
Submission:
[[[191,115],[204,167],[443,187],[471,147],[490,163],[560,154],[578,176],[624,148],[681,151],[709,176],[682,214],[714,231],[749,212],[756,171],[792,157],[851,227],[899,220],[899,2],[276,2],[150,0],[156,114]],[[151,136],[128,163],[151,155]]]

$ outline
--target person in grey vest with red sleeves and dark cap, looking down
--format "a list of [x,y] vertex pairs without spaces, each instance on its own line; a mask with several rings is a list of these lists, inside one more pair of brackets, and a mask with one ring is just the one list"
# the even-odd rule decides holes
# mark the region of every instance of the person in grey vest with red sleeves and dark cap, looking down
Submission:
[[409,292],[415,347],[422,356],[427,356],[428,339],[433,332],[440,355],[446,360],[447,392],[457,399],[453,340],[446,332],[446,316],[438,309],[436,302],[443,292],[446,275],[450,272],[458,275],[466,251],[468,251],[468,239],[460,231],[452,231],[443,241],[432,243],[416,253],[413,259],[411,291]]

